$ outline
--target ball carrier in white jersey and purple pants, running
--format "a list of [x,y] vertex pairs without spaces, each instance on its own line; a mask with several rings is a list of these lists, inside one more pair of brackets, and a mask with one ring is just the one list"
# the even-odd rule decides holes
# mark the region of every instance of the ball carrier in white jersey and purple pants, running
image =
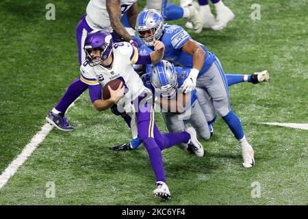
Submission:
[[[203,156],[204,151],[196,139],[194,129],[162,135],[155,125],[153,96],[133,69],[133,64],[151,64],[162,60],[164,44],[156,41],[153,48],[154,51],[150,54],[138,54],[136,47],[128,42],[114,44],[107,31],[92,31],[85,40],[86,62],[80,66],[80,78],[89,85],[90,99],[96,110],[107,110],[117,104],[123,107],[125,112],[136,114],[138,137],[149,153],[150,164],[156,177],[157,188],[153,194],[169,199],[171,195],[166,185],[161,151],[181,142],[191,146],[199,157]],[[120,86],[116,90],[108,87],[110,99],[101,99],[101,87],[113,79],[120,79]],[[122,85],[125,88],[122,88]]]

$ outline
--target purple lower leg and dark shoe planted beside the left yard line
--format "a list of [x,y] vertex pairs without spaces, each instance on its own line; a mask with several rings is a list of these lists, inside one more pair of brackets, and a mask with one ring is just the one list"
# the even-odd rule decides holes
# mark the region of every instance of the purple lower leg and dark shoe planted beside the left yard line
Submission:
[[80,79],[75,79],[73,83],[70,83],[62,99],[57,103],[55,108],[47,114],[46,120],[51,125],[56,127],[61,131],[73,131],[74,128],[68,124],[66,117],[64,116],[66,110],[72,104],[78,96],[80,96],[85,90],[87,90],[88,85],[80,81]]

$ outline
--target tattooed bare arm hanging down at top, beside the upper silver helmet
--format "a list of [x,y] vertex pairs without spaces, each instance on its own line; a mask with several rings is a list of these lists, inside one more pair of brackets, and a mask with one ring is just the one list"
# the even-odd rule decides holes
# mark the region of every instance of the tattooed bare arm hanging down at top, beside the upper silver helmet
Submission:
[[112,29],[114,29],[114,32],[116,32],[118,36],[129,42],[129,40],[132,39],[131,35],[127,32],[127,30],[123,26],[123,23],[121,23],[122,11],[120,6],[120,0],[107,0],[106,8],[110,17],[110,24],[112,26]]

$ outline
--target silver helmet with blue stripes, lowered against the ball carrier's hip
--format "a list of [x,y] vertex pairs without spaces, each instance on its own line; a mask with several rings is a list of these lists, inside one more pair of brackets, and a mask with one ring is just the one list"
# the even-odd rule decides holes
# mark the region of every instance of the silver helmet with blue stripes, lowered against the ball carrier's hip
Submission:
[[156,92],[165,98],[172,98],[177,92],[177,71],[175,66],[162,60],[152,67],[151,83]]

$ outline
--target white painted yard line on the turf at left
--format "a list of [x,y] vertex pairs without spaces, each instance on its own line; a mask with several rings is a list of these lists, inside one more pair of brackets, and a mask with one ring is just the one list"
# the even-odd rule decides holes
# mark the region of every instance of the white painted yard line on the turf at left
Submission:
[[[79,97],[77,99],[79,99]],[[75,101],[77,101],[77,99]],[[74,105],[75,102],[70,104],[66,112],[68,112],[70,107],[73,107]],[[36,133],[36,135],[31,139],[31,141],[25,146],[21,154],[18,155],[18,157],[16,157],[12,161],[12,163],[2,172],[0,176],[0,189],[3,188],[3,186],[8,182],[8,180],[15,174],[19,166],[21,166],[23,162],[25,162],[27,158],[31,155],[31,153],[34,152],[34,150],[38,147],[38,144],[40,144],[44,140],[44,138],[48,135],[51,129],[53,129],[53,125],[45,123],[42,126],[42,130]]]

